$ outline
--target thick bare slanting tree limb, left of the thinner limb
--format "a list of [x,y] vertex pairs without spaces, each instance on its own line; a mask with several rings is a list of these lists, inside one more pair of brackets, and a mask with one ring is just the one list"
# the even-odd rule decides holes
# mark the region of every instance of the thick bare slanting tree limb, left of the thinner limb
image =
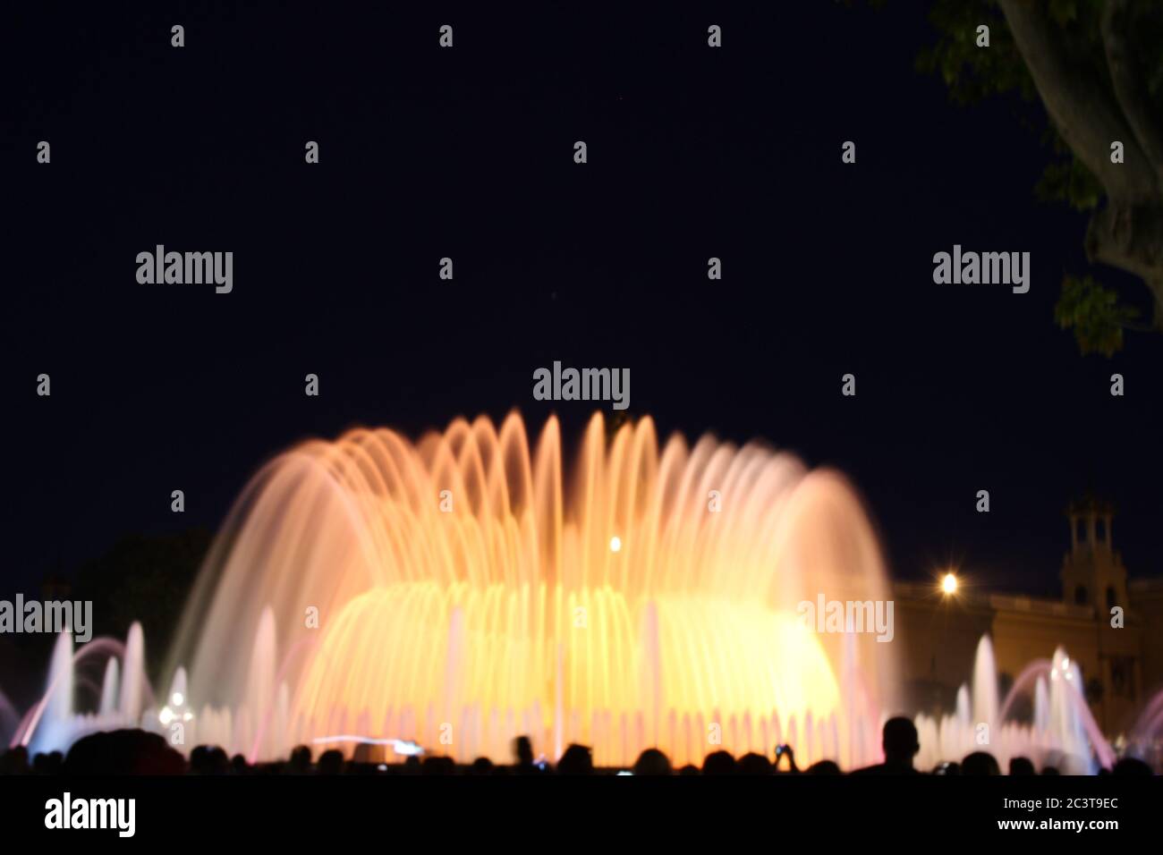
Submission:
[[[1156,192],[1155,171],[1118,101],[1094,76],[1065,56],[1054,23],[1040,0],[998,0],[1014,42],[1034,78],[1050,119],[1079,161],[1106,187],[1128,201]],[[1111,163],[1111,143],[1120,140],[1126,162]]]

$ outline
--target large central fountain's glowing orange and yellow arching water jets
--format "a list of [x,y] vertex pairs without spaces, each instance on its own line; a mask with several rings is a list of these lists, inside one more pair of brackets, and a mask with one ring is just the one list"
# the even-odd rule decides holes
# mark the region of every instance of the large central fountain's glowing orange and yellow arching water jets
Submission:
[[607,436],[600,415],[563,472],[557,420],[530,446],[516,414],[415,444],[357,429],[270,462],[172,651],[202,704],[197,741],[264,757],[356,734],[468,761],[529,734],[605,765],[777,741],[876,758],[891,644],[797,614],[821,593],[890,598],[842,476],[711,436],[659,447],[648,418]]

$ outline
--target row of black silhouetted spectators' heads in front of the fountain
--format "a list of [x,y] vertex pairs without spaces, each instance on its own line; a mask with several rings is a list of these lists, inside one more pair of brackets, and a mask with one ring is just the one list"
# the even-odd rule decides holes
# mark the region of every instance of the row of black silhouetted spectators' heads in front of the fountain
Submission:
[[[921,775],[913,767],[920,750],[916,728],[906,718],[885,722],[882,741],[884,762],[849,775]],[[221,748],[199,746],[190,753],[187,761],[171,748],[165,739],[145,731],[114,731],[95,733],[78,740],[67,755],[60,751],[37,754],[29,762],[28,749],[16,747],[0,756],[2,775],[842,775],[840,767],[830,760],[821,760],[800,770],[791,746],[779,746],[773,758],[749,753],[741,757],[729,751],[714,751],[702,761],[702,767],[684,765],[673,769],[670,758],[657,748],[648,748],[638,755],[628,770],[597,769],[593,753],[586,746],[571,744],[562,754],[556,767],[536,760],[528,736],[519,736],[513,742],[513,763],[493,763],[479,757],[469,765],[458,765],[451,757],[409,756],[404,763],[377,763],[369,758],[366,746],[361,746],[351,760],[345,760],[338,750],[323,751],[313,760],[307,746],[299,746],[283,762],[248,763],[237,754],[227,755]],[[786,762],[785,762],[786,761]],[[932,775],[1001,775],[993,755],[973,751],[961,763],[942,763]],[[1009,761],[1009,775],[1036,775],[1039,770],[1026,757]],[[1054,767],[1043,767],[1042,775],[1057,775]],[[1134,757],[1119,760],[1112,769],[1103,769],[1100,775],[1153,775],[1151,768]]]

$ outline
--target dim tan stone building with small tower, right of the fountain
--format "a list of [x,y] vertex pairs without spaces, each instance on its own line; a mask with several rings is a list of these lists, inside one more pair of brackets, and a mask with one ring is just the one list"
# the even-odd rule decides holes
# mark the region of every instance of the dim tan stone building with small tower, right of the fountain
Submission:
[[971,590],[948,596],[934,585],[894,585],[911,712],[952,710],[957,687],[971,681],[978,640],[989,634],[1003,694],[1026,665],[1049,660],[1061,646],[1078,663],[1091,712],[1106,735],[1129,732],[1147,699],[1163,689],[1163,578],[1128,580],[1113,546],[1110,506],[1076,504],[1068,519],[1070,551],[1057,599]]

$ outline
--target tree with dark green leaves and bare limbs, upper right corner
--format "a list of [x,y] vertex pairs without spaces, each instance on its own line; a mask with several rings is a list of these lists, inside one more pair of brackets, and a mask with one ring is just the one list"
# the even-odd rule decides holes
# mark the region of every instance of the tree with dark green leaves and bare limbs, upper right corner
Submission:
[[[1156,306],[1155,325],[1160,327],[1163,325],[1163,238],[1157,223],[1163,216],[1163,180],[1158,178],[1163,176],[1163,165],[1158,155],[1163,150],[1163,138],[1158,135],[1156,120],[1163,116],[1163,2],[1020,1],[1027,5],[1026,8],[1015,5],[1019,0],[934,0],[929,6],[929,21],[936,30],[936,42],[921,51],[916,67],[939,76],[958,105],[999,97],[1013,99],[1019,122],[1040,133],[1048,150],[1046,168],[1034,187],[1035,195],[1092,215],[1086,244],[1091,261],[1143,277]],[[1136,155],[1142,156],[1140,159],[1150,161],[1146,171],[1135,173],[1148,178],[1129,192],[1125,185],[1108,185],[1112,184],[1111,174],[1130,173],[1108,172],[1105,184],[1091,169],[1104,171],[1105,152],[1099,155],[1093,145],[1090,151],[1076,150],[1078,134],[1073,135],[1076,148],[1072,148],[1055,121],[1047,122],[1041,111],[1032,113],[1027,107],[1042,105],[1048,113],[1054,113],[1048,102],[1043,104],[1050,84],[1046,79],[1035,80],[1034,66],[1011,29],[1007,13],[1013,17],[1015,9],[1019,9],[1019,17],[1027,17],[1027,26],[1030,9],[1036,16],[1037,40],[1034,43],[1027,30],[1027,54],[1035,49],[1044,51],[1049,45],[1053,60],[1069,66],[1065,69],[1068,83],[1085,80],[1092,87],[1087,94],[1093,97],[1093,104],[1072,105],[1072,93],[1065,88],[1056,92],[1061,97],[1059,111],[1063,104],[1077,107],[1077,123],[1085,126],[1086,109],[1098,105],[1107,108],[1116,123],[1129,126],[1140,137],[1128,141],[1127,145],[1128,150],[1136,147]],[[987,49],[977,44],[982,24],[990,28]],[[1119,62],[1112,58],[1115,56],[1112,36],[1118,40]],[[1044,62],[1047,56],[1043,54],[1040,59]],[[1113,70],[1115,67],[1118,71]],[[1121,74],[1119,81],[1114,79],[1118,74]],[[1097,128],[1100,117],[1094,115],[1092,121]],[[1119,180],[1115,178],[1113,184],[1118,185]],[[1135,241],[1126,240],[1128,223],[1137,229]],[[1133,249],[1125,251],[1126,247]],[[1057,323],[1073,330],[1082,352],[1106,356],[1121,349],[1123,329],[1137,314],[1135,308],[1120,304],[1113,288],[1097,283],[1091,276],[1068,275],[1055,308]]]

